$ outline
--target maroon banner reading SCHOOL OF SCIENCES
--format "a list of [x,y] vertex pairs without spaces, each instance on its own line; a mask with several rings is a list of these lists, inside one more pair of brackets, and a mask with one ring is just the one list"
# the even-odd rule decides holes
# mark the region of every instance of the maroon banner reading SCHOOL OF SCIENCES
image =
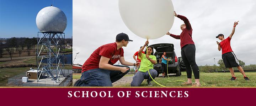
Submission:
[[0,88],[10,105],[253,105],[256,88]]

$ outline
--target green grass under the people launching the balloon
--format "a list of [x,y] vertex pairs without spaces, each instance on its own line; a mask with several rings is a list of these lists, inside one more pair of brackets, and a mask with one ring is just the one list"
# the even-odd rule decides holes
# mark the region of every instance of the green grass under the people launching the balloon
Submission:
[[[230,73],[200,73],[200,82],[201,84],[206,84],[202,87],[256,87],[256,72],[246,72],[246,75],[250,78],[251,81],[245,81],[242,74],[239,72],[235,72],[236,77],[238,78],[236,81],[229,81],[231,78]],[[80,74],[73,74],[73,79],[80,78]],[[133,75],[126,75],[133,76]],[[176,77],[175,75],[167,76],[165,78],[156,77],[155,81],[166,86],[166,87],[181,87],[182,81],[177,80],[187,80],[187,75],[185,72],[182,72],[180,77]],[[193,75],[192,75],[193,79]],[[177,81],[177,82],[174,82]],[[194,82],[194,80],[192,80]],[[154,87],[159,87],[154,81],[152,81]],[[124,83],[116,85],[118,87],[129,87],[130,83]],[[148,84],[146,80],[144,80],[141,84],[143,87],[147,87]]]

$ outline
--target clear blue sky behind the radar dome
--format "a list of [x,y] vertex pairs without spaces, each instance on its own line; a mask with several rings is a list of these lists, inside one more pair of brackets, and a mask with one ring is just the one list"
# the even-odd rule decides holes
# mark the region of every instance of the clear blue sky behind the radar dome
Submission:
[[37,13],[51,4],[66,14],[65,38],[71,38],[72,0],[0,0],[0,38],[37,37]]

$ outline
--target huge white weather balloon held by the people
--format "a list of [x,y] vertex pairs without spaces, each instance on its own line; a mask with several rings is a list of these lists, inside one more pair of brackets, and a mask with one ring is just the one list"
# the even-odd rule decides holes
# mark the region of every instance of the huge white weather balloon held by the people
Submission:
[[174,23],[171,0],[119,0],[119,12],[124,24],[145,39],[164,36]]

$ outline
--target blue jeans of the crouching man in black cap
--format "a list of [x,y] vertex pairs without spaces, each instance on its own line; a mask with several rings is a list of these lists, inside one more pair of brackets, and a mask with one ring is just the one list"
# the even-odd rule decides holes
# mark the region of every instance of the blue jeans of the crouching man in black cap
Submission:
[[[118,67],[128,67],[123,65],[114,65]],[[130,68],[130,67],[128,67]],[[126,75],[128,71],[125,73],[121,71],[114,70],[105,70],[105,69],[92,69],[82,73],[81,80],[75,83],[76,87],[112,87],[112,83],[121,79],[124,75]]]

